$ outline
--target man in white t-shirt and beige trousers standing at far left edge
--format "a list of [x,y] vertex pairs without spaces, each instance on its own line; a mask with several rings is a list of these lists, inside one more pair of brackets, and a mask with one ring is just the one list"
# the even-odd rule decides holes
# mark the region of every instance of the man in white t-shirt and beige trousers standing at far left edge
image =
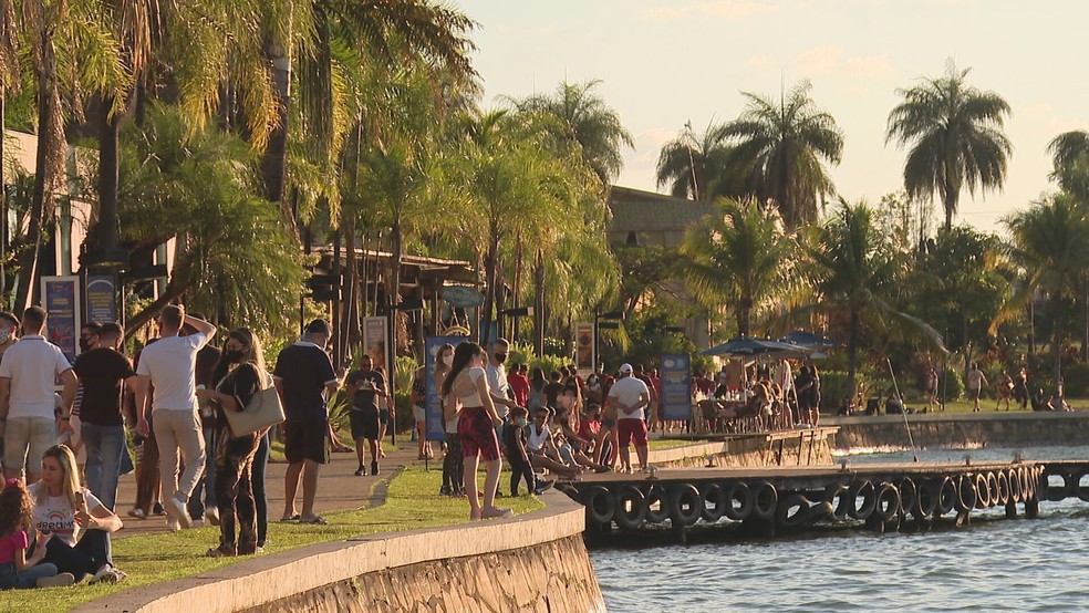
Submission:
[[[56,377],[64,382],[61,411],[64,424],[72,414],[79,380],[61,349],[45,340],[45,310],[23,312],[22,339],[0,360],[0,434],[3,435],[3,476],[27,482],[41,478],[42,454],[56,441]],[[68,429],[62,426],[62,429]]]

